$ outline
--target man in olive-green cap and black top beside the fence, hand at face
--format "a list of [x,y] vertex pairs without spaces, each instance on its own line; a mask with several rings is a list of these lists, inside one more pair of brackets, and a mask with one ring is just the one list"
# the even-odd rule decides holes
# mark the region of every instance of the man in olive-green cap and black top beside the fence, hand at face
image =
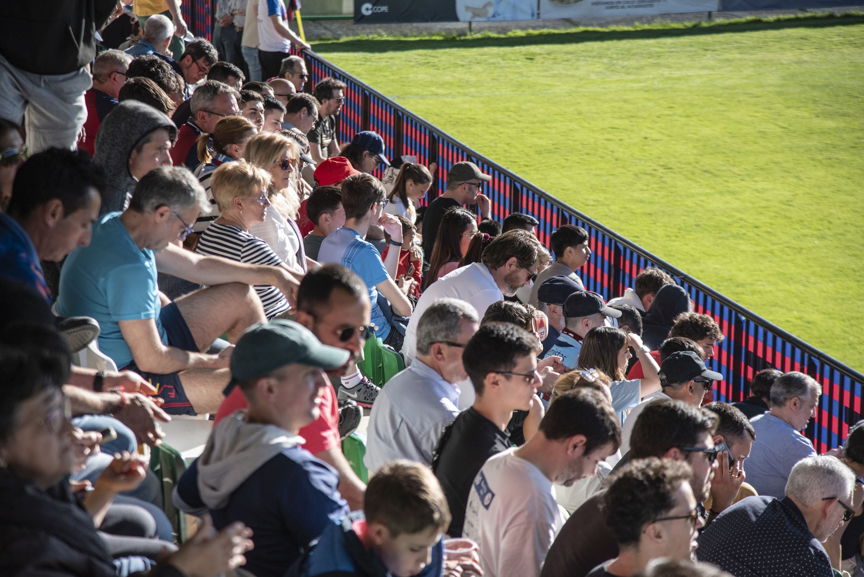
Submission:
[[491,180],[492,176],[480,172],[473,162],[456,162],[450,167],[447,172],[447,190],[429,203],[423,216],[423,254],[428,255],[427,258],[432,256],[438,225],[444,212],[454,206],[476,204],[484,218],[492,213],[492,201],[480,192],[483,183]]

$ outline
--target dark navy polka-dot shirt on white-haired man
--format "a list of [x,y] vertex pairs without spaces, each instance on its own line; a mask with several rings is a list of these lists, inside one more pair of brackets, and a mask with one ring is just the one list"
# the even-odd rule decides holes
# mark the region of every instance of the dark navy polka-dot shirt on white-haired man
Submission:
[[[757,434],[757,439],[759,435]],[[755,447],[755,444],[754,444]],[[750,482],[747,460],[747,482]],[[831,561],[791,498],[748,497],[699,536],[696,556],[736,577],[831,577]]]

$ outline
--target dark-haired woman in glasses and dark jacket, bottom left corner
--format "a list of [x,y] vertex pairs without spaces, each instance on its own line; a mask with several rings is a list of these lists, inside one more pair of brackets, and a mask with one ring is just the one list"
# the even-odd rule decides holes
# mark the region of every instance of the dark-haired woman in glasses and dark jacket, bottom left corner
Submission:
[[177,571],[210,576],[243,564],[251,530],[242,523],[215,537],[205,523],[156,567],[145,557],[112,557],[97,528],[118,492],[141,482],[146,461],[117,455],[92,491],[73,492],[76,448],[61,390],[70,365],[68,353],[0,349],[0,374],[8,378],[0,396],[0,574],[115,577],[125,569],[149,570],[150,577]]

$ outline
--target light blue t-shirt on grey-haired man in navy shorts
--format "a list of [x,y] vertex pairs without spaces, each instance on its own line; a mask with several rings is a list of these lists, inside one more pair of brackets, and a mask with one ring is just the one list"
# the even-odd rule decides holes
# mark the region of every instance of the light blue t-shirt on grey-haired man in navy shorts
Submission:
[[162,303],[156,255],[132,242],[120,214],[108,212],[99,217],[90,245],[73,250],[63,264],[57,313],[98,320],[99,350],[123,368],[132,362],[132,352],[120,333],[119,320],[154,319],[165,345],[168,335],[159,322]]

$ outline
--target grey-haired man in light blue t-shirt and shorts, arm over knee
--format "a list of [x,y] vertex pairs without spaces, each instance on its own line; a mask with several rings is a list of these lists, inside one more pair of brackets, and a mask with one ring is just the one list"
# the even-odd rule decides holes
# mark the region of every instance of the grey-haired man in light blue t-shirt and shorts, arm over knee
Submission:
[[[58,313],[98,320],[101,351],[153,384],[162,409],[175,415],[219,409],[233,346],[207,351],[220,335],[233,343],[267,320],[253,285],[271,284],[283,295],[299,286],[284,267],[183,250],[179,244],[192,232],[204,199],[187,168],[150,170],[129,208],[99,217],[90,245],[73,251],[60,274]],[[157,288],[157,271],[207,288],[169,301]]]

